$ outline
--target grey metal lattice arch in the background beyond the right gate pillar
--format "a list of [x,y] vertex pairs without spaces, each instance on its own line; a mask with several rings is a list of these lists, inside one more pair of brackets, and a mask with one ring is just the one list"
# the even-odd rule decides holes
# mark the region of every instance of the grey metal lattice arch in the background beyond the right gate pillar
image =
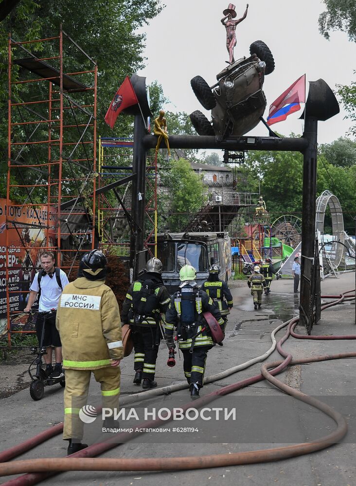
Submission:
[[341,205],[338,198],[332,192],[324,191],[318,197],[316,206],[315,230],[319,230],[321,235],[324,234],[325,210],[327,206],[330,208],[333,236],[335,237],[336,243],[332,245],[329,259],[337,267],[344,253],[344,220]]

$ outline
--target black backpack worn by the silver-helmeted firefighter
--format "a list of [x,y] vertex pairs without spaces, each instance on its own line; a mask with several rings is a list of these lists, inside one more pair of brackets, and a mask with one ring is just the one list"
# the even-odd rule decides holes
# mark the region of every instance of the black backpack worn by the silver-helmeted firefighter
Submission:
[[161,285],[151,279],[134,282],[132,292],[132,309],[135,322],[142,322],[145,317],[152,317],[154,310],[159,309],[158,293]]

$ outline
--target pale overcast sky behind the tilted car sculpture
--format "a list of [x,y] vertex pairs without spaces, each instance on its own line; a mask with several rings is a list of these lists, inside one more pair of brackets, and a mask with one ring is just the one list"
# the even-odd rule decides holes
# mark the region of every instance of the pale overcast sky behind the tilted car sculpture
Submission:
[[[147,83],[157,80],[162,85],[171,102],[166,109],[188,114],[198,109],[210,119],[210,112],[196,100],[190,80],[200,75],[212,86],[216,74],[227,66],[226,31],[220,20],[229,2],[165,0],[165,4],[160,15],[144,28],[147,61],[138,74],[146,76]],[[269,105],[304,73],[307,81],[322,78],[332,89],[355,79],[356,43],[341,32],[332,33],[330,41],[320,35],[318,17],[323,6],[319,0],[249,1],[248,15],[236,27],[234,57],[249,56],[249,46],[255,40],[264,41],[271,50],[276,69],[265,77],[265,118]],[[243,16],[245,8],[246,2],[236,4],[236,18]],[[308,89],[308,83],[306,86]],[[286,136],[302,134],[301,113],[272,128]],[[319,122],[319,143],[346,136],[350,122],[343,120],[344,115],[341,110],[331,120]],[[167,123],[169,131],[169,120]],[[259,123],[251,133],[267,136],[267,129]]]

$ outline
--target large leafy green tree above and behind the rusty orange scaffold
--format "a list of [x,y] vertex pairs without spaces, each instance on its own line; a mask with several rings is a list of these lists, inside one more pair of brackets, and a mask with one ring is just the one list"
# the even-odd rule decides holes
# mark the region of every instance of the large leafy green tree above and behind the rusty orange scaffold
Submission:
[[[78,8],[76,0],[52,2],[47,0],[22,0],[0,24],[0,155],[7,159],[7,34],[14,40],[33,40],[58,35],[60,24],[64,31],[98,63],[97,134],[103,137],[130,136],[133,132],[132,117],[119,117],[114,130],[104,121],[107,107],[126,75],[144,66],[142,47],[145,37],[138,28],[160,13],[161,0],[88,0],[85,9]],[[46,46],[45,46],[46,44]],[[53,44],[54,45],[54,44]],[[48,43],[29,44],[37,56],[55,55]],[[48,51],[44,52],[44,49]],[[80,62],[71,63],[71,48],[64,57],[64,69],[72,72],[81,69]],[[28,55],[24,54],[24,57]],[[43,57],[43,56],[42,56]],[[84,59],[83,62],[86,60]],[[48,61],[55,65],[56,60]],[[16,69],[13,70],[16,76]],[[32,91],[31,91],[32,89]],[[46,99],[48,87],[13,88],[17,101]],[[25,154],[25,152],[24,152]],[[27,155],[27,154],[26,154]],[[30,153],[29,157],[32,157]],[[27,158],[29,160],[29,158]],[[1,172],[4,169],[1,168]],[[1,194],[4,195],[4,194]]]

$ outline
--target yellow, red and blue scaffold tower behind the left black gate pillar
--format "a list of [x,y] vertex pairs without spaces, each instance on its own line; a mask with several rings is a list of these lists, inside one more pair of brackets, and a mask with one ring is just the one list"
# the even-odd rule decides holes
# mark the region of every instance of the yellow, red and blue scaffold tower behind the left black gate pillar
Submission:
[[147,157],[145,168],[145,227],[132,214],[131,181],[136,178],[132,167],[133,140],[99,137],[98,159],[98,231],[99,246],[121,256],[129,256],[131,237],[144,234],[144,247],[152,255],[157,242],[157,156]]

